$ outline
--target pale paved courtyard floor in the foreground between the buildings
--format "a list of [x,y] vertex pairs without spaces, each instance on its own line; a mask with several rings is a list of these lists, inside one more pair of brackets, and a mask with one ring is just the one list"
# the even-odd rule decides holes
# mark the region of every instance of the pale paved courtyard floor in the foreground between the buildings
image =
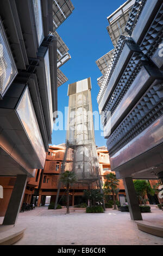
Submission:
[[[130,220],[129,212],[107,209],[104,214],[86,214],[84,209],[48,210],[47,206],[21,212],[17,223],[26,226],[16,245],[163,245],[161,237],[144,233]],[[153,209],[143,220],[158,219],[163,212]],[[2,223],[3,217],[0,217]]]

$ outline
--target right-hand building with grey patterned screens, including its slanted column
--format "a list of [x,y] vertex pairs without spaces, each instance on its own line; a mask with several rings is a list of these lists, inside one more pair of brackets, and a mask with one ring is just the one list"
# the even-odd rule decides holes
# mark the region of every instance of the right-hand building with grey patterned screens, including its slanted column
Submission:
[[133,179],[163,178],[162,8],[159,0],[135,1],[97,97],[111,169],[124,181],[133,220],[142,220]]

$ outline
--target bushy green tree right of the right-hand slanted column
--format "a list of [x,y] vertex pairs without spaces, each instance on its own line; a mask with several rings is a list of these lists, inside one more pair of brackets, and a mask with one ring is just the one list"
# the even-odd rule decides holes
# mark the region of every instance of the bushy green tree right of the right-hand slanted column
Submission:
[[147,194],[151,194],[151,196],[155,194],[155,188],[152,188],[147,180],[134,180],[134,187],[140,204],[146,205],[148,199],[145,196]]

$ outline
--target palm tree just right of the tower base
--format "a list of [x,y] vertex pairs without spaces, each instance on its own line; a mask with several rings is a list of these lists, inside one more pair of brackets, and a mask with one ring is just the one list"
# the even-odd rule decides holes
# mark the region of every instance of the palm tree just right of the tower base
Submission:
[[104,175],[104,178],[106,179],[104,184],[104,189],[107,192],[112,193],[113,202],[114,202],[114,210],[116,210],[116,193],[117,193],[117,186],[119,184],[119,180],[117,180],[116,175],[114,173],[109,173]]

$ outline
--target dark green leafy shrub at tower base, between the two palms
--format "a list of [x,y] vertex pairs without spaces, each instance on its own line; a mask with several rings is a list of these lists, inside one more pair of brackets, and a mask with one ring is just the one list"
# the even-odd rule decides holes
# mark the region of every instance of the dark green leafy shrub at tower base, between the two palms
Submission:
[[99,190],[85,190],[83,197],[90,200],[90,205],[96,205],[96,202],[102,203],[103,194]]

